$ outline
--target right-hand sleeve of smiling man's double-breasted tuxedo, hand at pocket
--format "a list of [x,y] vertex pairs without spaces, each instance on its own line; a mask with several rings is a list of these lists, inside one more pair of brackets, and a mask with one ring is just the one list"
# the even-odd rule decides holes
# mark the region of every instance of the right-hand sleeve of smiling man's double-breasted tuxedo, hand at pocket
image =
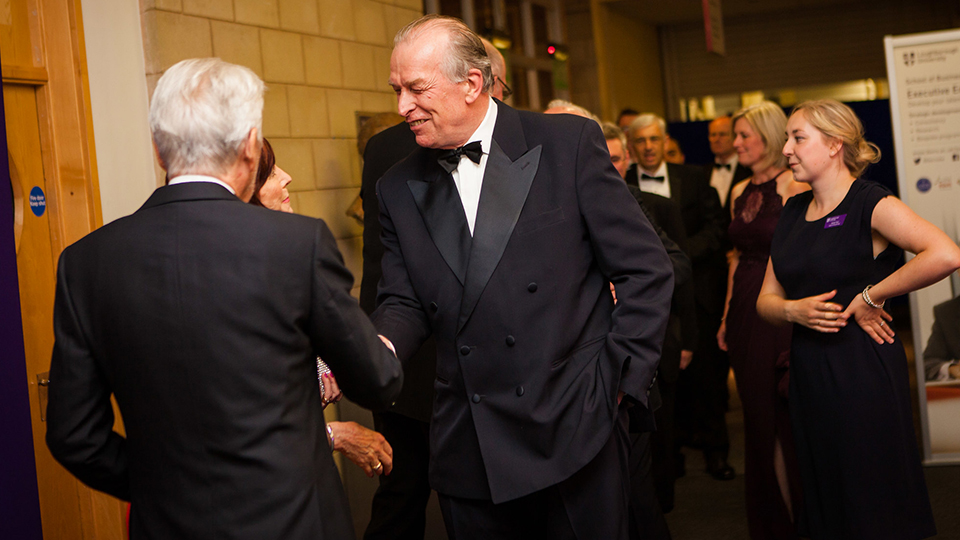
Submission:
[[600,270],[617,289],[602,352],[620,368],[620,391],[647,406],[670,315],[670,259],[626,192],[595,122],[585,122],[577,154],[577,196]]

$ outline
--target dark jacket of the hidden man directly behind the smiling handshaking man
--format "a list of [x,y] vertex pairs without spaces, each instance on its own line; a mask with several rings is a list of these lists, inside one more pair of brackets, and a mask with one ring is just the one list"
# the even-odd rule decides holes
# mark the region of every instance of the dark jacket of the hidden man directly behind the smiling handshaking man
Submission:
[[[363,278],[360,280],[360,307],[373,313],[377,307],[377,284],[383,271],[383,244],[380,243],[380,204],[376,186],[390,167],[420,148],[406,122],[374,135],[363,153]],[[421,422],[429,422],[433,414],[433,379],[437,371],[437,347],[428,340],[403,365],[403,390],[390,408]]]

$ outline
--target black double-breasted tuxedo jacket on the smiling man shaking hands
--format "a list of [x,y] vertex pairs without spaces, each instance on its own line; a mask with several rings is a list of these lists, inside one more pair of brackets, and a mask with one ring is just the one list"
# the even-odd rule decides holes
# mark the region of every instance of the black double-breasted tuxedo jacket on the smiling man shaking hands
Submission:
[[431,485],[494,503],[595,457],[618,390],[646,407],[673,293],[596,122],[498,106],[472,238],[438,152],[380,180],[373,316],[401,359],[436,337]]

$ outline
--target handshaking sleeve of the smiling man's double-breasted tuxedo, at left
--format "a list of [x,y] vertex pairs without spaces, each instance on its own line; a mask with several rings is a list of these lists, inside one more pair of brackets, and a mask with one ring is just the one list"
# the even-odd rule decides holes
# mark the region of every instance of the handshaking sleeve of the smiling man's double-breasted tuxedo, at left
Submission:
[[400,240],[397,238],[388,201],[382,192],[382,184],[377,182],[380,242],[383,244],[383,259],[380,265],[383,277],[377,291],[377,309],[371,318],[377,330],[396,347],[397,357],[406,362],[420,350],[423,342],[430,337],[432,329],[407,273]]

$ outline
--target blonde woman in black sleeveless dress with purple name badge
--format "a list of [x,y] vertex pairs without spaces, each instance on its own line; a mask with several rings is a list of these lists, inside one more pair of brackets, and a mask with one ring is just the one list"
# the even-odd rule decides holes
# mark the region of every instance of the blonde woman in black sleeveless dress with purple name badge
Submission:
[[[927,538],[936,528],[907,360],[883,305],[960,268],[960,248],[886,188],[858,179],[879,151],[846,105],[797,106],[787,136],[788,165],[812,190],[780,215],[757,310],[793,324],[801,536]],[[898,267],[903,250],[916,257]]]

